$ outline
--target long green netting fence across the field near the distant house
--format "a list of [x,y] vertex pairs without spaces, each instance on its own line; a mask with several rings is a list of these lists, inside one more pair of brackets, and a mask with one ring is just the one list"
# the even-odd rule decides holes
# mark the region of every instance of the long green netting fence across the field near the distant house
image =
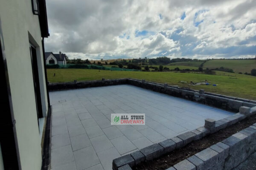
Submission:
[[127,68],[104,67],[102,65],[93,65],[93,64],[67,64],[67,65],[47,64],[46,68],[82,68],[82,69],[111,70],[111,71],[140,71],[135,69],[127,69]]

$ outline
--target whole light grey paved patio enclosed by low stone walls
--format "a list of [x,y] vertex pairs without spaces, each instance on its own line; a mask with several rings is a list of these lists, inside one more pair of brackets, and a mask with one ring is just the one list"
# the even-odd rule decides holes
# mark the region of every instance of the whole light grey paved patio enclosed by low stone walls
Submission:
[[[132,85],[50,92],[51,170],[111,170],[112,160],[233,113]],[[111,113],[145,113],[113,125]]]

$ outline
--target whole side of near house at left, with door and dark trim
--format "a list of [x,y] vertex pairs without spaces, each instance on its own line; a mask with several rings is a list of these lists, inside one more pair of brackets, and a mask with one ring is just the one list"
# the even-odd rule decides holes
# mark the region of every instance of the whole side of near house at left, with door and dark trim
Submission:
[[0,170],[40,170],[49,109],[45,0],[0,0]]

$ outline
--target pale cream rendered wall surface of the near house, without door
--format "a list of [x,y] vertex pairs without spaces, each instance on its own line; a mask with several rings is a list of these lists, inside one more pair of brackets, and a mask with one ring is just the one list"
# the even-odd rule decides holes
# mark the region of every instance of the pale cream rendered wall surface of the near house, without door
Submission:
[[[41,169],[41,138],[36,113],[32,65],[29,51],[29,34],[38,45],[38,62],[45,62],[41,44],[38,15],[33,15],[31,0],[0,0],[0,18],[12,94],[20,162],[23,170]],[[38,67],[44,75],[44,67]],[[40,77],[47,96],[45,77]],[[40,85],[42,83],[40,82]],[[45,105],[48,105],[44,97]],[[47,108],[44,108],[47,112]]]

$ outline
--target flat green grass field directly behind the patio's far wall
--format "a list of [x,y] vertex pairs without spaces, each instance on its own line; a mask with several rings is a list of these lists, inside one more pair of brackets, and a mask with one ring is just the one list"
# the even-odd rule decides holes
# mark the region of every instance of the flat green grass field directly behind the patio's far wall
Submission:
[[[54,73],[56,74],[55,77],[53,77]],[[196,90],[205,89],[207,92],[256,100],[256,77],[221,71],[216,71],[216,74],[217,75],[175,72],[99,71],[90,69],[47,69],[49,82],[71,82],[75,79],[77,81],[86,81],[102,78],[135,78],[159,83],[167,82],[169,85],[189,87],[188,84],[182,84],[180,81],[201,82],[207,79],[208,82],[217,84],[217,86],[198,85],[191,86],[191,88]]]

